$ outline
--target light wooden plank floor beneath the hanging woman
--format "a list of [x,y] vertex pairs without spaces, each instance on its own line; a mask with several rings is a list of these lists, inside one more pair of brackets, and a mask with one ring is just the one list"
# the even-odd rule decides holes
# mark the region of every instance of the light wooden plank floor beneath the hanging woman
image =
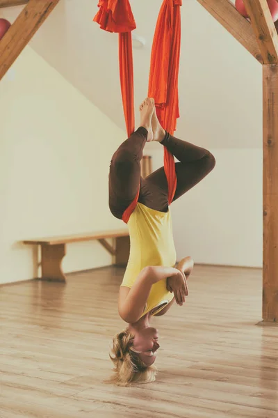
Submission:
[[277,418],[278,327],[261,327],[261,270],[197,266],[185,307],[154,324],[157,380],[114,387],[123,270],[31,281],[1,293],[0,417]]

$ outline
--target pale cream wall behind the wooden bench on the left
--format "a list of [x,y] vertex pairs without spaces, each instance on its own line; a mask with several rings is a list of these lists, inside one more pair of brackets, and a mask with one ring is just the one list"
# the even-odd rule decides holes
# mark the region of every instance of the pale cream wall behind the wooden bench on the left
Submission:
[[[0,283],[36,277],[26,238],[124,225],[108,210],[108,167],[125,137],[32,49],[0,83]],[[68,246],[65,272],[111,263],[97,242]]]

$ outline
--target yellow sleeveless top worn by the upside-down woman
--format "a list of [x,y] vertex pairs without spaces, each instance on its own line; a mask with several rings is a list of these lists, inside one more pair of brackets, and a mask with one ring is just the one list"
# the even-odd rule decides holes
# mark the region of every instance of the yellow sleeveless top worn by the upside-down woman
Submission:
[[[128,226],[131,251],[122,286],[131,288],[142,268],[147,265],[174,267],[176,249],[170,210],[160,212],[137,203],[129,218]],[[167,291],[166,279],[158,281],[152,286],[145,310],[140,318],[156,307],[157,310],[155,309],[152,314],[158,314],[173,297],[174,295]]]

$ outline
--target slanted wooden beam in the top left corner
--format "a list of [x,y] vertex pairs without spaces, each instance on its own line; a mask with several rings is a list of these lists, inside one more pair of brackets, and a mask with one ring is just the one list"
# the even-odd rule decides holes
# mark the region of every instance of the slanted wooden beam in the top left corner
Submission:
[[29,0],[0,41],[0,80],[59,0]]

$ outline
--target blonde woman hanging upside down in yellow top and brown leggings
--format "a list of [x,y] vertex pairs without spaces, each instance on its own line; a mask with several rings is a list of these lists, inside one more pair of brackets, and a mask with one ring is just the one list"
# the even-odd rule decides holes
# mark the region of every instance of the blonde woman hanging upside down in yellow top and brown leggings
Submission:
[[153,366],[159,348],[158,330],[151,327],[152,316],[162,316],[174,300],[180,306],[188,295],[187,278],[193,269],[190,257],[176,265],[172,219],[167,198],[164,167],[147,178],[140,176],[140,161],[147,141],[158,141],[179,160],[175,164],[179,199],[199,183],[215,166],[215,159],[204,148],[172,137],[163,130],[156,116],[154,100],[140,106],[140,127],[113,155],[109,175],[109,206],[118,219],[135,199],[137,206],[129,222],[131,252],[120,286],[119,314],[128,323],[113,339],[111,359],[117,385],[152,382]]

